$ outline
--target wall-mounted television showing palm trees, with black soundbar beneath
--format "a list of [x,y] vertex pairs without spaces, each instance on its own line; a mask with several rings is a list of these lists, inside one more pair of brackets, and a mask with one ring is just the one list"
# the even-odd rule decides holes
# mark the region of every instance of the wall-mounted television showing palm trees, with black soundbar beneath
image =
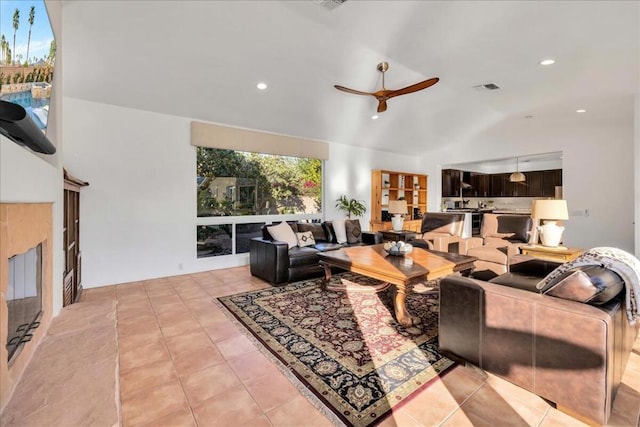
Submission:
[[[29,140],[46,141],[46,138],[42,135],[30,137],[30,133],[36,128],[43,135],[47,131],[55,58],[56,41],[44,0],[2,0],[0,101],[20,106],[28,117],[20,123],[24,119],[16,120],[16,116],[20,116],[22,110],[0,103],[3,108],[0,117],[2,133],[39,152],[47,150],[32,147],[34,144]],[[55,152],[55,147],[52,148]]]

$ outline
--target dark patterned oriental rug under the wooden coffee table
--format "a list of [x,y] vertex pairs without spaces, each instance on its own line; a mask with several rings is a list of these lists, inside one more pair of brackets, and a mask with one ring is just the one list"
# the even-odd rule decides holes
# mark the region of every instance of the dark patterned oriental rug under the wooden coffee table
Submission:
[[[335,424],[372,426],[454,362],[438,352],[437,282],[407,297],[414,325],[393,316],[391,289],[354,273],[220,297],[254,343]],[[364,288],[366,289],[366,288]],[[418,293],[421,292],[421,293]]]

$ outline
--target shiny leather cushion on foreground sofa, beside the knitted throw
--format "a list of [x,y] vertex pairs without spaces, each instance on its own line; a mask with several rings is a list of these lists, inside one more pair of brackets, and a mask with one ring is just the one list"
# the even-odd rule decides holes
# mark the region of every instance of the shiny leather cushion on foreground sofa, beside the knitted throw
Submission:
[[543,293],[600,305],[609,302],[622,289],[624,281],[615,272],[599,265],[585,265],[566,271],[552,281]]

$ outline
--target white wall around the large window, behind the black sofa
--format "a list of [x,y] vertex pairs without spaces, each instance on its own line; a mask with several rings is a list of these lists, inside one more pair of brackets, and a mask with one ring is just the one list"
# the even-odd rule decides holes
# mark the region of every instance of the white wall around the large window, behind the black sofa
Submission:
[[[248,254],[196,257],[195,148],[190,119],[64,98],[64,159],[80,193],[85,288],[226,268]],[[406,156],[331,144],[325,217],[341,194],[371,198],[371,169],[417,171]],[[362,218],[368,229],[369,212]],[[182,266],[180,268],[179,266]]]

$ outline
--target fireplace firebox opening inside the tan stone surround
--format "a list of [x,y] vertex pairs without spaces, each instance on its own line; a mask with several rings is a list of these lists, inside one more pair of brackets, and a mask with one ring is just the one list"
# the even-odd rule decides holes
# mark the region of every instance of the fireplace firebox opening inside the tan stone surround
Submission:
[[42,315],[42,243],[9,258],[7,287],[8,361],[20,354],[40,326]]

